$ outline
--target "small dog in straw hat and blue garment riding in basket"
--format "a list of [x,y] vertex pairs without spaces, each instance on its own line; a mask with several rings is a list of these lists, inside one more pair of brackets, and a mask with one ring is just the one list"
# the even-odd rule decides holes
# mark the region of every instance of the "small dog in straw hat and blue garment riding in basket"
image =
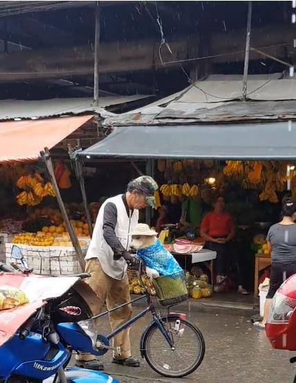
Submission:
[[131,232],[131,248],[146,265],[149,279],[182,272],[182,268],[156,237],[157,233],[144,223]]

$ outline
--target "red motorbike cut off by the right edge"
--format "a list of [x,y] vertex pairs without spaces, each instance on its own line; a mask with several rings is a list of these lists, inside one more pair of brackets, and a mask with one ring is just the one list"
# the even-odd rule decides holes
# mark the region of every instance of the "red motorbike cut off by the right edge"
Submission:
[[[296,351],[296,274],[277,290],[266,324],[266,335],[273,348]],[[296,362],[296,357],[290,359]],[[296,383],[296,376],[294,378]]]

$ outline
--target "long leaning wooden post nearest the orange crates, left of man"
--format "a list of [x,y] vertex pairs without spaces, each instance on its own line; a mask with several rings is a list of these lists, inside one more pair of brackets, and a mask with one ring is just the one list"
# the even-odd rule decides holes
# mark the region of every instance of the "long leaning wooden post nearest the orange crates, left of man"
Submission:
[[59,204],[59,209],[61,209],[63,219],[66,223],[68,233],[70,235],[71,241],[73,243],[73,246],[75,248],[75,252],[76,252],[77,257],[78,257],[78,261],[80,263],[80,266],[81,266],[82,272],[83,272],[84,268],[85,268],[84,255],[82,254],[82,250],[81,250],[79,241],[77,239],[77,235],[75,234],[73,226],[72,226],[72,224],[68,218],[68,215],[66,212],[66,207],[65,207],[64,202],[62,200],[62,196],[59,193],[59,187],[57,186],[57,180],[55,179],[55,171],[53,169],[53,162],[50,158],[50,153],[49,153],[48,148],[45,148],[44,151],[41,151],[40,155],[41,155],[42,160],[44,160],[44,162],[46,164],[51,183],[53,184],[53,189],[55,190],[55,196],[57,197],[57,203]]

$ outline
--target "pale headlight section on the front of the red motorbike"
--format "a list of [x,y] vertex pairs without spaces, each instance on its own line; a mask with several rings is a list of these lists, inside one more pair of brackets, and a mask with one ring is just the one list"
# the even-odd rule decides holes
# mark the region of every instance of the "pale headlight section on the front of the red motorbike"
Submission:
[[269,312],[269,323],[288,322],[296,307],[296,299],[276,292]]

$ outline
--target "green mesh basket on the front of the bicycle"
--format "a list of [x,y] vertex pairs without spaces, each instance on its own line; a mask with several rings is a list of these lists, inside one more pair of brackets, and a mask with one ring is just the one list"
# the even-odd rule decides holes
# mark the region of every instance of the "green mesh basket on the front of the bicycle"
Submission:
[[154,278],[152,282],[156,290],[156,296],[163,306],[173,306],[188,299],[183,271]]

